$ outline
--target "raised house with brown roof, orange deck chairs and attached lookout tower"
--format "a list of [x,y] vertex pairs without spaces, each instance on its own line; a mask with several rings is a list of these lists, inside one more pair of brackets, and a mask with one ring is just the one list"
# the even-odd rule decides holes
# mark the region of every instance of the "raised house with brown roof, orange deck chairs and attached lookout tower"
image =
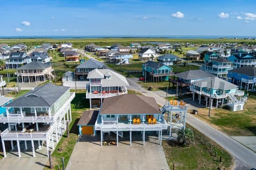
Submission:
[[[93,131],[94,133],[100,131],[101,146],[105,133],[116,135],[117,146],[118,138],[127,136],[130,137],[130,145],[132,145],[132,133],[134,132],[141,132],[143,145],[145,145],[145,140],[147,140],[145,136],[150,131],[158,133],[159,144],[162,145],[163,135],[169,140],[173,134],[172,129],[185,129],[186,108],[186,103],[178,103],[177,100],[173,103],[168,101],[159,109],[153,97],[136,94],[115,96],[103,101],[99,113],[91,113],[91,117],[93,114],[94,117],[97,116],[96,119],[92,118],[94,120],[92,122],[95,122]],[[178,113],[173,114],[173,112]],[[167,118],[165,118],[165,113],[167,113]],[[89,117],[89,114],[87,115]],[[86,120],[86,117],[84,118]],[[79,133],[83,133],[81,127],[79,127]]]

